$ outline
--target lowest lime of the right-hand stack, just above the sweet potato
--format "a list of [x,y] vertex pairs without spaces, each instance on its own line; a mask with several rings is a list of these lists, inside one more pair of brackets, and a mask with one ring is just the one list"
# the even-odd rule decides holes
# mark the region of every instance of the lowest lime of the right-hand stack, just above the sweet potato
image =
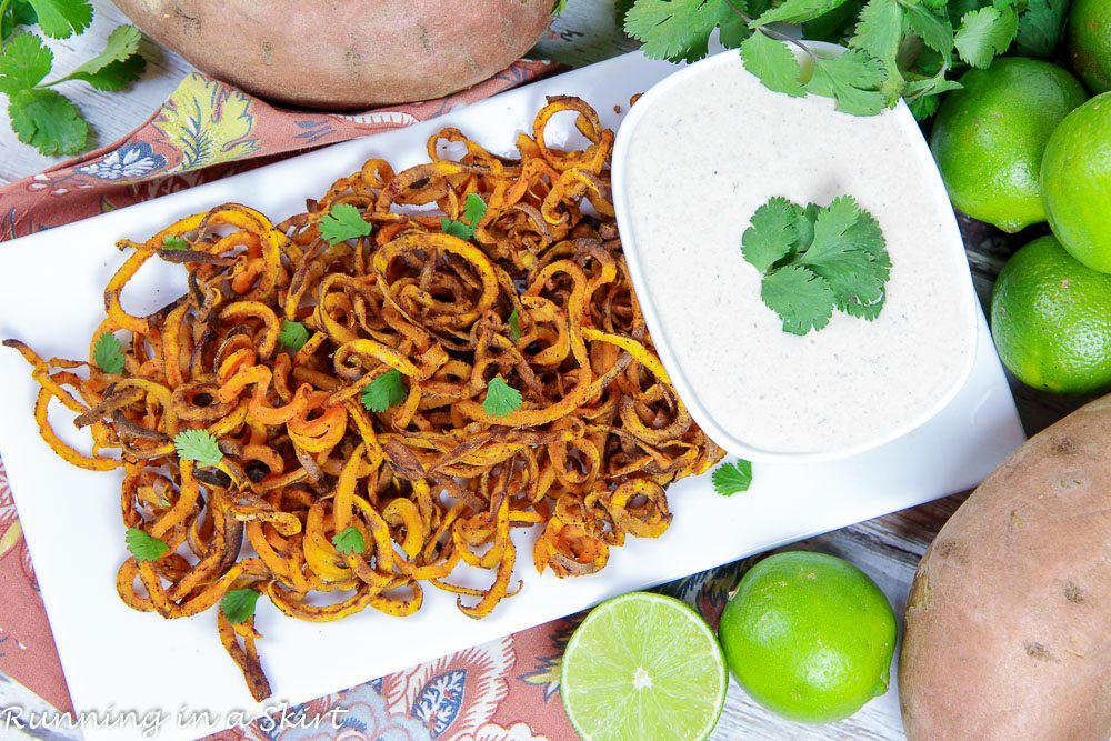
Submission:
[[1111,390],[1111,276],[1084,267],[1052,237],[1035,239],[999,273],[991,333],[1000,360],[1028,385]]

